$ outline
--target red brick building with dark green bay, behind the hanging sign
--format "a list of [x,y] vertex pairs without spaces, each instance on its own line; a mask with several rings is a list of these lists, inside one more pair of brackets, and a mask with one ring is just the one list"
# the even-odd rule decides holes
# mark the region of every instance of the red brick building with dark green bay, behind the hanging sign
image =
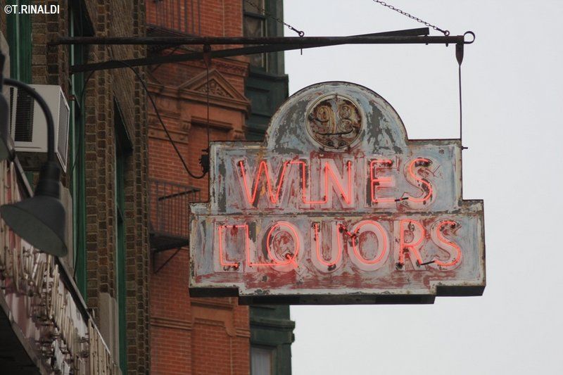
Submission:
[[[256,3],[263,8],[263,1]],[[281,1],[267,3],[269,13],[283,16]],[[242,0],[150,2],[148,35],[241,37],[249,30],[258,32],[253,36],[281,35],[281,24],[267,23],[261,9]],[[161,46],[149,53],[190,51],[201,48]],[[182,231],[187,203],[208,201],[208,176],[197,178],[208,140],[261,139],[270,116],[287,97],[283,54],[153,65],[147,76],[166,127],[149,107],[152,373],[291,374],[294,324],[289,307],[190,298],[189,238]]]

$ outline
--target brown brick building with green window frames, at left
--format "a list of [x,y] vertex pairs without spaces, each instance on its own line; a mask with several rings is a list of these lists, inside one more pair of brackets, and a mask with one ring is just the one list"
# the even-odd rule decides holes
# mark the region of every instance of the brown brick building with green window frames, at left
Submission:
[[[70,74],[71,65],[141,57],[145,49],[48,45],[64,36],[144,35],[144,0],[44,3],[58,5],[58,14],[3,12],[0,31],[11,55],[11,76],[28,84],[61,86],[70,106],[62,182],[72,230],[69,255],[62,263],[118,365],[115,373],[119,368],[123,374],[147,374],[146,95],[127,69]],[[1,8],[6,4],[32,2],[0,0]],[[30,172],[27,176],[37,179],[34,161],[22,158],[22,164]]]

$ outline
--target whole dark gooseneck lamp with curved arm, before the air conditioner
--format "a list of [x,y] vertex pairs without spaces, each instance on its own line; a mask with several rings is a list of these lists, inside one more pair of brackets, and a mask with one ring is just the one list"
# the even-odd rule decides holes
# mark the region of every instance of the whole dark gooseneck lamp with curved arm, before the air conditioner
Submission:
[[[4,62],[4,56],[1,57],[0,67]],[[9,78],[1,79],[0,76],[0,92],[3,84],[18,87],[27,94],[30,94],[43,113],[47,121],[47,161],[39,172],[39,182],[35,189],[34,196],[26,198],[23,201],[2,205],[0,207],[0,216],[8,224],[9,227],[18,234],[22,239],[30,243],[30,245],[58,257],[65,256],[68,249],[65,243],[65,219],[66,213],[61,203],[61,187],[59,186],[59,177],[61,170],[59,169],[55,159],[55,126],[53,123],[53,115],[49,106],[37,91],[22,82],[11,80]],[[2,82],[4,81],[4,82]],[[11,155],[11,150],[6,148],[6,139],[11,140],[8,128],[8,105],[4,95],[0,94],[0,158],[6,152],[6,158]],[[1,159],[0,159],[1,160]]]

